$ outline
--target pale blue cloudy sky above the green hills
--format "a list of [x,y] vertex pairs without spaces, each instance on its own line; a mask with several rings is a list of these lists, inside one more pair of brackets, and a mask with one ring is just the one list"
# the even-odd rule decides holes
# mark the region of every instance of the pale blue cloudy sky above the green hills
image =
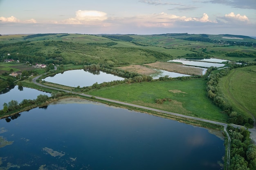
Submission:
[[0,0],[0,34],[256,36],[256,0]]

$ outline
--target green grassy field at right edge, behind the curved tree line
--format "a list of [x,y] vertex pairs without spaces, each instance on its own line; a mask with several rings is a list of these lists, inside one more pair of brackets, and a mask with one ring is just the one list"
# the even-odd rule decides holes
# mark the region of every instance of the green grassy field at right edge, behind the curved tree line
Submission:
[[220,79],[220,89],[235,111],[256,117],[256,66],[232,70]]

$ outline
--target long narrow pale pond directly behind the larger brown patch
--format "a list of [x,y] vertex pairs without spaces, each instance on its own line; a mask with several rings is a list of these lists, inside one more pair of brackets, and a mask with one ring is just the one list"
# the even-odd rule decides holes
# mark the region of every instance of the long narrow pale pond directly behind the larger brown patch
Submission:
[[225,64],[220,63],[211,63],[211,62],[196,62],[196,61],[190,61],[190,60],[169,60],[168,62],[180,62],[182,64],[186,64],[189,66],[199,66],[199,67],[207,67],[210,68],[213,67],[223,67]]

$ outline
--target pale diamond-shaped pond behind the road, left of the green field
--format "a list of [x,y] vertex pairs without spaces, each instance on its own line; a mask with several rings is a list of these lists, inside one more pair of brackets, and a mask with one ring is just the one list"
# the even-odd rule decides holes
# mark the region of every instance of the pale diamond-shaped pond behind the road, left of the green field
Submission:
[[42,80],[70,87],[86,87],[92,86],[96,82],[101,84],[103,82],[124,80],[124,77],[119,77],[103,71],[84,71],[83,69],[80,69],[64,71],[63,73],[54,75],[54,77],[46,77]]

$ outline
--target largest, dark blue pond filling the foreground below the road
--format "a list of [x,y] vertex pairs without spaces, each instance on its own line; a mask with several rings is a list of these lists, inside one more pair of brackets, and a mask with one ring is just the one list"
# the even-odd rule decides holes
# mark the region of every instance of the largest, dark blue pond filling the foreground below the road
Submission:
[[225,155],[207,129],[92,102],[1,119],[0,144],[4,170],[220,170]]

